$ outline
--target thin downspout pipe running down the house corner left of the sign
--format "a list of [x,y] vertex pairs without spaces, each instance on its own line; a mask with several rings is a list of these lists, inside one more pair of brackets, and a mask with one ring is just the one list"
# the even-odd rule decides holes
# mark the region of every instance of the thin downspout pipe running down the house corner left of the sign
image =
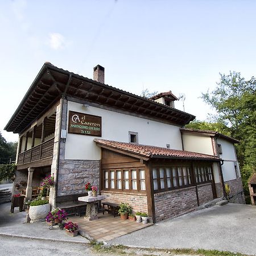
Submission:
[[61,100],[60,100],[60,123],[59,123],[59,141],[58,141],[58,147],[57,147],[57,163],[56,163],[56,175],[55,175],[55,207],[56,207],[56,197],[57,197],[57,190],[58,190],[58,180],[59,180],[59,163],[60,163],[60,139],[61,139],[61,126],[62,126],[62,115],[63,115],[63,102],[65,98],[65,94],[67,93],[68,87],[71,83],[72,80],[72,75],[69,74],[69,79],[67,82],[67,85],[65,86],[65,90],[61,95]]

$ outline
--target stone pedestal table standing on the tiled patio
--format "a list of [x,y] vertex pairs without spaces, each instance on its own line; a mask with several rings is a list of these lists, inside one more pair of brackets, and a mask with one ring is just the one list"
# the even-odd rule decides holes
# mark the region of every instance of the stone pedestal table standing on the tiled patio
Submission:
[[98,218],[97,203],[103,199],[105,199],[105,196],[80,196],[78,198],[79,201],[84,201],[87,203],[84,217],[85,220],[91,221]]

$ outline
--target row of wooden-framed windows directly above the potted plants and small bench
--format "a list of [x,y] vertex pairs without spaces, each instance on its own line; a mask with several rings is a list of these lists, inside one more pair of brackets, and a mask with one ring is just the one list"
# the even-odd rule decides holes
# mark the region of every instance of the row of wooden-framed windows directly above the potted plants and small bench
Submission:
[[103,170],[104,189],[146,191],[146,175],[142,168]]

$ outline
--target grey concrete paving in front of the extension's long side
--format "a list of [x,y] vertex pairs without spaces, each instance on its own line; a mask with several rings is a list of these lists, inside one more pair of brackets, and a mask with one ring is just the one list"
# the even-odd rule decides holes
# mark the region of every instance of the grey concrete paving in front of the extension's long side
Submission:
[[216,249],[256,255],[256,206],[215,205],[109,242],[164,249]]

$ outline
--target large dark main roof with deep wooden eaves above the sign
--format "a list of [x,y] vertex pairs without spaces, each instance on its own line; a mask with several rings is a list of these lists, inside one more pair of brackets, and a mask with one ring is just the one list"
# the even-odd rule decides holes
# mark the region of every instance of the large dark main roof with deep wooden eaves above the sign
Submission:
[[194,115],[65,71],[47,62],[40,69],[5,130],[21,133],[64,96],[179,126],[195,119]]

